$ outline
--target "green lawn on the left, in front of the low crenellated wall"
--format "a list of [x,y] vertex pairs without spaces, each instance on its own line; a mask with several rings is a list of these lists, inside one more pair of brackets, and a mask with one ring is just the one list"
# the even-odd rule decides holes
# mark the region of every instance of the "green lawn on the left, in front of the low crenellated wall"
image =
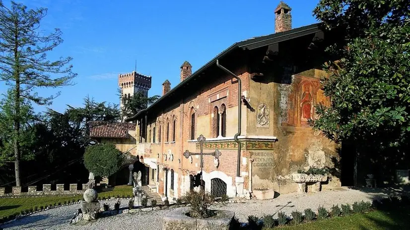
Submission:
[[[108,198],[116,197],[119,195],[122,197],[123,195],[127,197],[127,195],[132,196],[132,187],[128,185],[120,185],[114,188],[106,188],[102,189],[98,192],[99,198]],[[72,200],[77,201],[78,199],[82,199],[82,195],[77,196],[47,196],[47,197],[22,197],[22,198],[0,198],[0,218],[7,217],[14,213],[20,213],[20,211],[24,211],[26,209],[33,208],[37,206],[40,209],[40,206],[45,207],[46,205],[53,205],[58,203],[64,204],[64,202],[72,202]]]

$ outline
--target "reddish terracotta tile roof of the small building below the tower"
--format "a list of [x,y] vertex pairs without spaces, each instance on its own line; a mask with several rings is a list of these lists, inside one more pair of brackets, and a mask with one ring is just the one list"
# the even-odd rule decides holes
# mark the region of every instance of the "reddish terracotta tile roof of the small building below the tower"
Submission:
[[135,123],[91,121],[90,137],[128,138],[129,130],[135,130]]

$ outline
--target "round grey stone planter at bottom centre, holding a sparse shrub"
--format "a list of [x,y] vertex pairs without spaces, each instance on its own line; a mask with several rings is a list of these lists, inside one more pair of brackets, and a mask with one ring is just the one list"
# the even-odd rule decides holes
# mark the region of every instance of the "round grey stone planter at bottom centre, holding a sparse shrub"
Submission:
[[232,211],[215,210],[216,216],[210,218],[191,218],[186,214],[189,208],[177,208],[170,211],[165,217],[162,230],[229,230],[229,224],[235,213]]

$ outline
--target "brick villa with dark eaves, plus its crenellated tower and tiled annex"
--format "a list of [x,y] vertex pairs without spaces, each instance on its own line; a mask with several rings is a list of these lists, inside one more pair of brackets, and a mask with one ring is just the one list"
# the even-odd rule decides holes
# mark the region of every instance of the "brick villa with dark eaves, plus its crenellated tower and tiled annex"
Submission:
[[[166,80],[159,100],[126,119],[137,125],[107,124],[92,137],[130,152],[128,165],[136,162],[143,184],[163,199],[199,186],[200,157],[183,153],[200,151],[201,134],[205,153],[221,152],[219,159],[204,156],[205,190],[215,196],[273,198],[274,191],[297,191],[291,175],[298,170],[335,169],[339,146],[308,124],[315,105],[330,104],[319,81],[326,74],[323,47],[335,32],[320,24],[292,29],[291,8],[283,2],[273,12],[273,34],[237,42],[194,73],[185,61],[177,86]],[[147,92],[151,77],[120,74],[119,85],[127,96],[139,88]],[[324,189],[341,186],[338,170]]]

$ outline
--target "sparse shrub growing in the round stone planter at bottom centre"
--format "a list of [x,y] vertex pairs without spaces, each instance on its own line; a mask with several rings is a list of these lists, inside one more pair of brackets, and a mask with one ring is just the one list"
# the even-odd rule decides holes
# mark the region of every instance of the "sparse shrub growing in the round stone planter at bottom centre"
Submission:
[[191,204],[190,214],[192,217],[206,218],[210,216],[209,207],[214,202],[214,197],[208,192],[189,191],[185,195],[185,200],[188,204]]

